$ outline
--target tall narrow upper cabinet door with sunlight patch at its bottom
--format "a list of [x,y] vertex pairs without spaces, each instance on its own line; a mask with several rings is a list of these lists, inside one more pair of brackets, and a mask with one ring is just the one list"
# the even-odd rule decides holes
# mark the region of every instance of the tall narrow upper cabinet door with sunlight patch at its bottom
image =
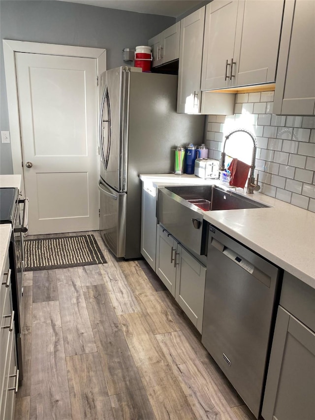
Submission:
[[181,21],[177,112],[198,114],[205,7]]

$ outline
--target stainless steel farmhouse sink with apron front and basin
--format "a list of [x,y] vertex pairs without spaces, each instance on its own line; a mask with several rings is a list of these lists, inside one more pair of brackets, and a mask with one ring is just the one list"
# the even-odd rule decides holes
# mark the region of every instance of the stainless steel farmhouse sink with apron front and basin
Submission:
[[269,207],[215,185],[158,188],[157,218],[189,250],[205,255],[208,227],[202,210],[235,210]]

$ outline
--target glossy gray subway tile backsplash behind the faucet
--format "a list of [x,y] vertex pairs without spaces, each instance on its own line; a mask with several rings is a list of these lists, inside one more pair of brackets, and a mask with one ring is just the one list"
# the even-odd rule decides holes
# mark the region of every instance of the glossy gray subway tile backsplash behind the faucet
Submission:
[[251,130],[260,192],[315,212],[315,117],[274,115],[273,99],[273,92],[239,94],[234,115],[209,115],[209,157],[221,158],[224,136],[233,129]]

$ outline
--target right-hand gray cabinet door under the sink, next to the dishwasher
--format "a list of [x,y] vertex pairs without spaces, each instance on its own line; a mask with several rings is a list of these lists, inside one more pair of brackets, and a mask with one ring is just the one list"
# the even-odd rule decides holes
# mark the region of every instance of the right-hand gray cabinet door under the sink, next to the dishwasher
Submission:
[[177,245],[176,266],[175,299],[201,333],[206,268],[181,245]]

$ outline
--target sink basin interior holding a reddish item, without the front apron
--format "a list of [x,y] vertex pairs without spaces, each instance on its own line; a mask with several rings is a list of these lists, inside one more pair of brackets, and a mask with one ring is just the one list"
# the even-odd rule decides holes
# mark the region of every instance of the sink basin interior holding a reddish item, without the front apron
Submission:
[[193,200],[210,201],[210,209],[203,210],[236,210],[236,209],[252,209],[269,207],[266,204],[252,200],[241,194],[232,191],[225,191],[215,185],[188,185],[165,187],[166,190],[178,195],[189,203],[193,204]]

